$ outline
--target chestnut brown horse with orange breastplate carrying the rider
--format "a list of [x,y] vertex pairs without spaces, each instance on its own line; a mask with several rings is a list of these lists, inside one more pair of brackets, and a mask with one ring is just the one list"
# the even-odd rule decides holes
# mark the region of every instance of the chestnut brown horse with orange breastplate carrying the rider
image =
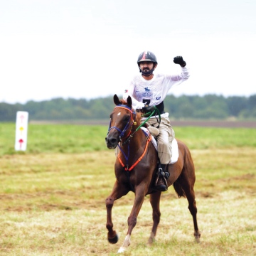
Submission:
[[[119,147],[119,155],[114,164],[116,181],[112,193],[105,201],[107,208],[107,239],[112,244],[119,240],[112,223],[114,201],[125,196],[129,191],[133,191],[135,195],[132,211],[128,217],[127,235],[122,247],[118,250],[118,253],[120,253],[127,250],[131,243],[132,230],[137,224],[137,216],[146,195],[149,195],[153,210],[153,226],[148,243],[151,245],[155,241],[156,229],[161,215],[159,208],[161,191],[156,190],[154,183],[158,166],[158,154],[155,146],[151,143],[151,134],[145,135],[144,130],[140,129],[142,114],[135,112],[132,108],[131,97],[128,97],[127,100],[119,100],[119,97],[114,95],[113,100],[116,106],[110,114],[110,127],[105,138],[108,149]],[[193,159],[186,144],[178,139],[176,140],[178,142],[178,161],[175,164],[170,164],[170,176],[167,182],[168,186],[174,186],[178,198],[181,198],[181,196],[187,198],[188,209],[193,217],[193,235],[196,242],[200,242],[201,233],[198,230],[197,208],[193,190],[196,181]]]

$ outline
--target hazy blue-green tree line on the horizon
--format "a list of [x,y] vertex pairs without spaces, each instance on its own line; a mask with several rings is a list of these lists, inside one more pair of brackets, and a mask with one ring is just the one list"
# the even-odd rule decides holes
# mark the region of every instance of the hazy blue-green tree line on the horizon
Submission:
[[[164,106],[171,119],[256,119],[256,95],[168,95]],[[30,120],[108,119],[113,108],[113,97],[92,100],[59,97],[41,102],[31,100],[25,104],[0,102],[0,122],[15,122],[17,111],[27,111]]]

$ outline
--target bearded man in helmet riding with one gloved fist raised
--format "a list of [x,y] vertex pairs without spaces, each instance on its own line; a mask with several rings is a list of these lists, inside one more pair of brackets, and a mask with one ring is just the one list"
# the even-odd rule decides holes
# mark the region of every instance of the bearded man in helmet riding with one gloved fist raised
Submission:
[[[172,86],[178,85],[189,78],[186,62],[181,56],[174,58],[174,63],[181,65],[181,73],[178,75],[154,75],[157,66],[157,60],[154,53],[144,51],[139,55],[137,64],[139,66],[139,74],[135,76],[124,90],[123,98],[132,97],[132,107],[135,110],[143,112],[152,112],[154,106],[161,113],[161,124],[159,126],[158,154],[159,154],[159,171],[156,178],[156,189],[159,191],[167,191],[167,181],[169,178],[169,162],[171,161],[172,151],[171,142],[174,139],[174,130],[171,127],[169,113],[164,112],[164,99]],[[158,125],[157,116],[152,116],[148,122],[151,126]]]

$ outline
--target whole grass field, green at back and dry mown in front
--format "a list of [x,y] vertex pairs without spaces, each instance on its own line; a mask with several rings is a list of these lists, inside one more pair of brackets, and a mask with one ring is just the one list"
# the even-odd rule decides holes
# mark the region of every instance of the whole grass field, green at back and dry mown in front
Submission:
[[[174,127],[191,149],[201,243],[185,198],[161,196],[156,242],[146,197],[123,255],[256,255],[256,129]],[[30,124],[14,151],[15,125],[0,122],[0,255],[116,255],[133,193],[114,203],[119,242],[107,242],[105,198],[114,183],[107,127]]]

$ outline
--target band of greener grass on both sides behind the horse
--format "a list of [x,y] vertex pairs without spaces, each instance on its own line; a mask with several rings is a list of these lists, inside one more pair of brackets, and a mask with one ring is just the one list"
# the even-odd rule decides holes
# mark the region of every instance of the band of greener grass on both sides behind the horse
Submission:
[[[15,124],[0,122],[0,156],[4,154],[82,153],[106,150],[107,126],[29,124],[26,152],[15,151]],[[255,147],[256,129],[174,127],[190,149]]]

